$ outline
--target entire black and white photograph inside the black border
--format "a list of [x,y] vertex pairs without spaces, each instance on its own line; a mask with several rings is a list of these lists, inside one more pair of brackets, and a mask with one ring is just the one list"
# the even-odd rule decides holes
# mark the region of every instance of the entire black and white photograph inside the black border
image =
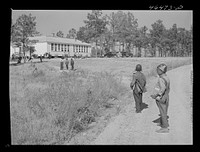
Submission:
[[192,10],[10,20],[11,145],[193,145]]

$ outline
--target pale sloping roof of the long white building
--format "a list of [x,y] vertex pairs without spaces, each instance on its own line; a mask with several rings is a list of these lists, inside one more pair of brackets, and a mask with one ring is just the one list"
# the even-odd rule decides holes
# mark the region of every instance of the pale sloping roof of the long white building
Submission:
[[60,37],[52,37],[52,36],[35,36],[35,37],[29,37],[29,39],[30,40],[38,40],[39,42],[65,43],[65,44],[91,46],[90,44],[79,41],[77,39],[60,38]]

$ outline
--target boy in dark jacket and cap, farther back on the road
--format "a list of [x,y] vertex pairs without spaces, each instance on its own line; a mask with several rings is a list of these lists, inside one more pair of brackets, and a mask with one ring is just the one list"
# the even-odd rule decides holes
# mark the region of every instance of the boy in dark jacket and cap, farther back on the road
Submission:
[[130,84],[135,99],[136,113],[141,113],[142,93],[146,92],[146,78],[141,71],[142,66],[137,64]]

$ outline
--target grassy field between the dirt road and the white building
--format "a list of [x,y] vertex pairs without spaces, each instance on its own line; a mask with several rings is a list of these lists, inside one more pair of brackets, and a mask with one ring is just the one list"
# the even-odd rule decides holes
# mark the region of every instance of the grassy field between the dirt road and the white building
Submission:
[[61,144],[101,117],[109,101],[123,97],[135,65],[149,78],[165,63],[168,69],[192,58],[76,59],[75,71],[59,70],[59,59],[10,65],[12,144]]

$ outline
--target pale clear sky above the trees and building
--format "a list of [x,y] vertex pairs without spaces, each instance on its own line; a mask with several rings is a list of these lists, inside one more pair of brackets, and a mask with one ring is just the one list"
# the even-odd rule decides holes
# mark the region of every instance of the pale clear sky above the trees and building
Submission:
[[[142,11],[142,10],[122,10],[123,12],[131,12],[138,19],[138,26],[146,26],[151,29],[151,24],[158,19],[163,21],[164,26],[169,29],[173,24],[187,30],[193,24],[192,11]],[[71,28],[77,31],[79,27],[84,26],[84,20],[87,20],[87,14],[92,10],[12,10],[11,18],[13,22],[22,15],[31,13],[36,16],[36,29],[42,35],[52,35],[59,30],[67,35]],[[117,10],[102,10],[103,15],[117,12]]]

